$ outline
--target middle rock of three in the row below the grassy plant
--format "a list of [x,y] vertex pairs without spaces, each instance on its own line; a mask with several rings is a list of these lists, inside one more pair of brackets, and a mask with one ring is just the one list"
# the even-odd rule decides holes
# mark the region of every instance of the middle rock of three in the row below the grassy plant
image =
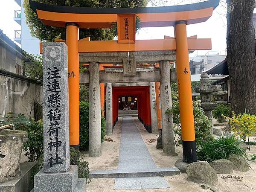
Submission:
[[233,163],[227,159],[214,160],[209,163],[217,174],[231,174],[233,173]]

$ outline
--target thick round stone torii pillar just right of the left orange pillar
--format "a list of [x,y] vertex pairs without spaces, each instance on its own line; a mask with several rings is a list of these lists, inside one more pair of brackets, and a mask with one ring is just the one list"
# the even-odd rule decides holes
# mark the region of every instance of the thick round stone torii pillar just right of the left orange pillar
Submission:
[[101,156],[99,63],[89,63],[89,157]]

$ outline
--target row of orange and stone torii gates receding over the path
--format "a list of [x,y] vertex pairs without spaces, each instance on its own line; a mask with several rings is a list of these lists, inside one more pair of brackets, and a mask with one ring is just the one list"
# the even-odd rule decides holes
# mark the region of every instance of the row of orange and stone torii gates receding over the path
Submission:
[[[145,8],[68,7],[37,3],[31,0],[29,3],[45,25],[66,28],[65,43],[70,73],[68,78],[70,146],[79,148],[79,81],[89,83],[90,157],[101,155],[100,109],[104,106],[104,84],[107,84],[106,121],[108,125],[106,129],[107,134],[111,134],[112,126],[118,117],[116,98],[118,95],[125,94],[134,94],[138,97],[140,120],[147,129],[150,126],[151,130],[155,129],[152,128],[150,115],[152,97],[148,90],[151,86],[113,87],[112,89],[111,84],[131,82],[151,82],[152,84],[154,82],[156,95],[161,95],[160,98],[156,96],[156,102],[158,129],[162,129],[163,152],[175,155],[172,116],[166,114],[166,110],[172,107],[170,61],[176,61],[183,161],[188,163],[196,161],[189,51],[211,49],[211,39],[199,39],[197,36],[187,38],[186,25],[208,20],[218,6],[219,0]],[[136,40],[136,17],[140,18],[140,27],[173,26],[175,37],[164,36],[164,39]],[[90,41],[90,38],[79,40],[79,28],[112,28],[113,23],[117,23],[117,41]],[[57,39],[56,41],[64,40]],[[80,78],[79,61],[89,64],[89,74],[80,74]],[[160,66],[158,69],[155,67],[154,71],[138,72],[136,64],[143,63],[159,63]],[[122,64],[123,72],[107,73],[103,64]],[[112,97],[109,99],[112,104],[108,108],[108,96],[111,96],[111,92]]]

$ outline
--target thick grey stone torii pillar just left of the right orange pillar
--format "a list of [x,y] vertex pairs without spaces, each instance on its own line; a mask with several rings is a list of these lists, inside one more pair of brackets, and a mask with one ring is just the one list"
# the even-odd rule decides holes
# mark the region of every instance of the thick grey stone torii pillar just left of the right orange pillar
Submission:
[[174,133],[173,133],[173,119],[172,115],[167,114],[166,111],[172,108],[172,93],[170,82],[170,62],[160,61],[161,72],[161,113],[162,113],[162,133],[163,133],[163,152],[176,156]]

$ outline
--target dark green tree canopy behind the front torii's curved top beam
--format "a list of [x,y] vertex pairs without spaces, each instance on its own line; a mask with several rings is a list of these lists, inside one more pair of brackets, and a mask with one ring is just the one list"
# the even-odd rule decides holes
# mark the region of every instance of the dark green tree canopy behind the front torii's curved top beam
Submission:
[[[76,7],[145,7],[148,0],[35,0],[60,6]],[[41,41],[54,41],[55,38],[65,39],[65,28],[44,25],[35,12],[29,7],[29,0],[24,0],[26,23],[30,28],[31,35]],[[91,40],[112,40],[112,29],[79,29],[79,39],[90,37]]]

